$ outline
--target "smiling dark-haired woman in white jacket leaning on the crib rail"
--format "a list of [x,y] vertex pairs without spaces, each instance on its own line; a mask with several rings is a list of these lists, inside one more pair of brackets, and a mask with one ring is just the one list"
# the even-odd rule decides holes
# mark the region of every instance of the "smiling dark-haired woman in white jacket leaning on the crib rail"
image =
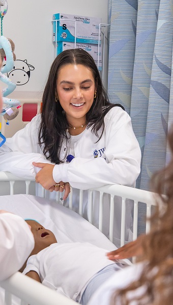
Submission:
[[[8,139],[1,150],[0,170],[36,177],[46,190],[63,191],[122,184],[131,187],[140,172],[140,148],[131,119],[120,104],[111,104],[93,58],[82,49],[65,50],[52,63],[42,100],[42,112],[25,130]],[[78,192],[73,192],[74,205]],[[88,217],[88,195],[83,213]],[[104,223],[109,209],[105,198]],[[66,205],[66,203],[65,203]],[[121,203],[114,230],[120,238]],[[93,222],[98,224],[94,194]],[[131,204],[127,205],[126,240],[131,239]],[[104,227],[103,227],[103,232]]]

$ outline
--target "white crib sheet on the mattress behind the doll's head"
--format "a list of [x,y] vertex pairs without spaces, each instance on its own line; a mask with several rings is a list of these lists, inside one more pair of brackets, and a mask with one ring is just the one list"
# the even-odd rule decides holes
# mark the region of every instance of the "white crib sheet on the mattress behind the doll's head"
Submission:
[[90,242],[102,248],[116,249],[95,226],[54,200],[34,195],[0,196],[0,209],[23,218],[32,218],[51,230],[57,242]]

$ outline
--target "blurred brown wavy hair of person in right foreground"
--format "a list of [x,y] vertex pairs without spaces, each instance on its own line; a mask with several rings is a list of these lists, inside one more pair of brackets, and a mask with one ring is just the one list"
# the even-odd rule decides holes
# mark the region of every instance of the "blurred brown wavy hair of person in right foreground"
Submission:
[[[130,304],[128,292],[144,286],[145,293],[131,300],[142,305],[172,305],[173,303],[173,126],[168,134],[171,160],[154,174],[156,211],[151,217],[151,232],[142,240],[143,257],[147,261],[139,279],[114,292],[111,305]],[[163,195],[164,194],[164,195]]]

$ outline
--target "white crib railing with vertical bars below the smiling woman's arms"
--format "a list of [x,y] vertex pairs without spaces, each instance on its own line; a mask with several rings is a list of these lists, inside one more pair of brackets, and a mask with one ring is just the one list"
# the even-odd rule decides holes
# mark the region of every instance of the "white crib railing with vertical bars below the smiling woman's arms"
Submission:
[[[21,177],[17,177],[10,172],[1,172],[0,171],[0,183],[1,182],[9,182],[10,184],[10,195],[14,194],[14,185],[15,181],[24,181],[25,182],[25,190],[23,192],[25,194],[30,193],[30,184],[31,180],[29,179],[21,179]],[[137,221],[138,221],[138,202],[142,202],[147,206],[147,222],[146,222],[146,233],[150,231],[150,221],[148,218],[151,216],[151,207],[155,205],[155,193],[134,189],[131,187],[123,186],[123,185],[105,185],[100,188],[92,188],[88,190],[89,192],[89,221],[92,223],[93,218],[93,191],[99,192],[99,230],[102,232],[102,224],[103,224],[103,194],[110,195],[110,225],[109,225],[109,239],[113,241],[113,217],[114,217],[114,209],[116,209],[114,204],[114,196],[119,196],[122,198],[122,218],[121,218],[121,246],[124,245],[125,240],[125,213],[126,213],[126,199],[131,199],[134,201],[134,213],[133,213],[133,240],[137,238]],[[45,189],[42,188],[42,197],[45,197]],[[62,193],[56,193],[56,201],[61,203]],[[71,188],[71,192],[69,194],[69,209],[73,210],[73,189]],[[79,191],[79,214],[82,214],[82,206],[83,206],[83,190]]]

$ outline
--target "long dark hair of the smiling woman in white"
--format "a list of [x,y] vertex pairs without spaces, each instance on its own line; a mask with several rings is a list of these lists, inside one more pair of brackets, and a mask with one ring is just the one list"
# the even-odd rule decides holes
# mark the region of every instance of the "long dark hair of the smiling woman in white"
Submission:
[[[80,64],[91,70],[95,86],[97,88],[97,96],[94,98],[92,107],[86,114],[87,128],[92,126],[92,132],[98,137],[98,130],[102,128],[104,131],[104,116],[115,106],[120,104],[111,104],[107,94],[103,88],[99,71],[92,56],[83,49],[69,49],[60,53],[53,61],[48,80],[43,92],[41,124],[39,128],[39,144],[43,147],[44,156],[55,164],[63,162],[60,160],[60,150],[63,139],[68,138],[66,129],[68,122],[63,114],[63,108],[59,101],[55,102],[56,82],[60,69],[67,64]],[[102,136],[101,134],[101,136]],[[99,138],[99,137],[98,137]]]

